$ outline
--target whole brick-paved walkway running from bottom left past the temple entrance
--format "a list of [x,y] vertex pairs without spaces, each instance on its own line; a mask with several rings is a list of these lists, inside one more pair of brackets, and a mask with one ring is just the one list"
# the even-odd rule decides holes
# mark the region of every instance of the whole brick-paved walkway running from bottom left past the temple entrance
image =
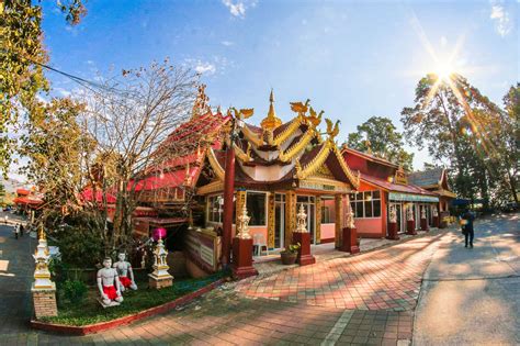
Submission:
[[411,309],[436,239],[227,283],[182,309],[94,335],[25,330],[0,334],[0,345],[396,345],[411,339]]

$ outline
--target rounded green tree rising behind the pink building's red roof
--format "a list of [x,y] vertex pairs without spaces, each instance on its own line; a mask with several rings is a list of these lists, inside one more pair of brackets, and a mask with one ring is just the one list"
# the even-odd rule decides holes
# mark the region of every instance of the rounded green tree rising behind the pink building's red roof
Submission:
[[358,126],[358,132],[349,134],[347,145],[360,152],[371,152],[377,157],[402,165],[408,171],[412,169],[414,154],[403,148],[403,135],[388,118],[370,118]]

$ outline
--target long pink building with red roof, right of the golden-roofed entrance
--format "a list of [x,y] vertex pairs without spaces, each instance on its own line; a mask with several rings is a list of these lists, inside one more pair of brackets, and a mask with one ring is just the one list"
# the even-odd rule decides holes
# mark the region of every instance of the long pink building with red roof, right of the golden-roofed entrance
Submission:
[[406,221],[411,209],[415,228],[420,230],[420,219],[426,216],[433,226],[433,215],[439,211],[439,194],[410,182],[402,167],[374,155],[343,146],[344,161],[359,170],[361,182],[358,191],[350,196],[355,227],[362,237],[385,237],[388,232],[388,215],[393,208],[397,215],[397,231],[406,232]]

